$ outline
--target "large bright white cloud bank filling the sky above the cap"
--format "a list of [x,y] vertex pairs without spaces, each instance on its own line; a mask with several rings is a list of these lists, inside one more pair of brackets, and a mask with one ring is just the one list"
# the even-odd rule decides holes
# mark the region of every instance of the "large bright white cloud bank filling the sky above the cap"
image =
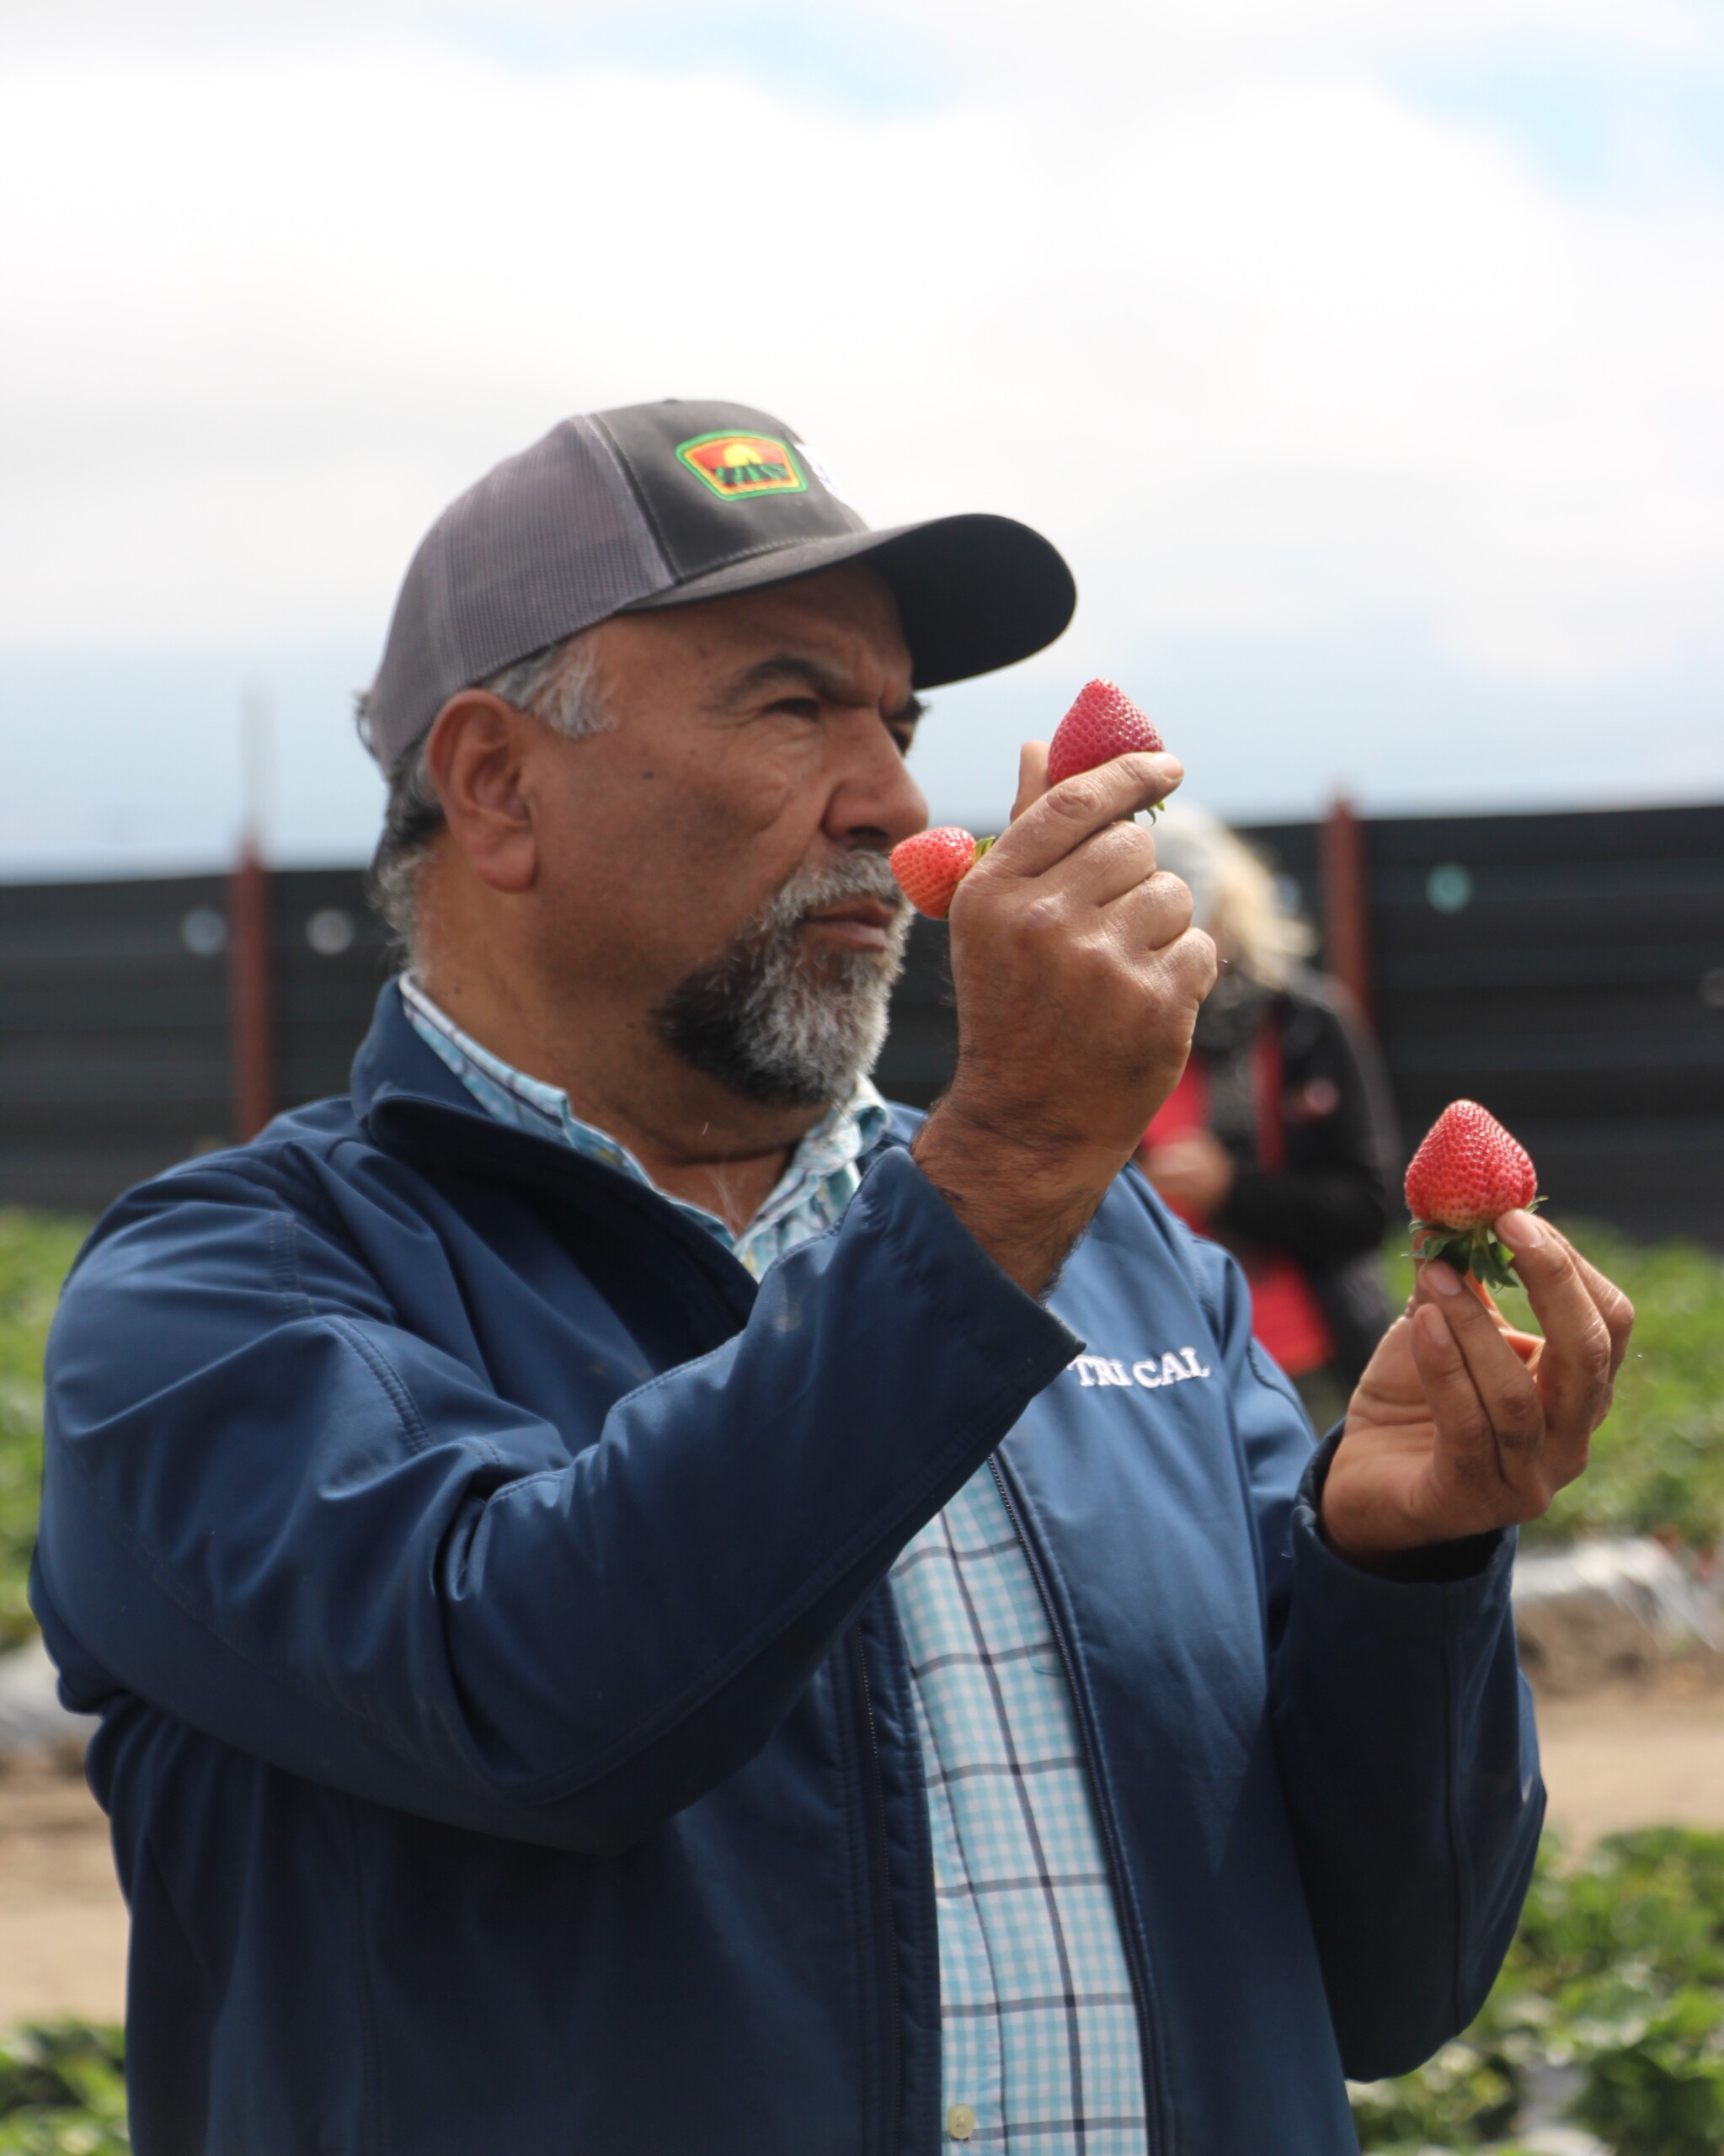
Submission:
[[[1060,671],[1379,621],[1502,679],[1715,649],[1718,177],[1565,190],[1401,88],[1539,41],[1718,71],[1715,13],[810,15],[834,67],[903,56],[873,106],[731,9],[664,19],[735,22],[733,60],[582,63],[614,19],[181,0],[144,41],[15,0],[0,642],[375,645],[487,461],[679,392],[780,410],[873,515],[1041,522],[1084,589]],[[509,56],[522,24],[556,65]]]

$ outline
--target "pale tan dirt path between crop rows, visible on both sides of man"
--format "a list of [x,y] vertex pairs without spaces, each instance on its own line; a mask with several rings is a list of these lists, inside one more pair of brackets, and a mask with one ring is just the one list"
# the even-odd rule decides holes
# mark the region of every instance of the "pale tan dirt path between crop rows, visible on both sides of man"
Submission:
[[[1724,1688],[1545,1701],[1539,1731],[1552,1824],[1571,1846],[1618,1826],[1724,1828]],[[0,2027],[123,2007],[125,1904],[78,1761],[0,1764]]]

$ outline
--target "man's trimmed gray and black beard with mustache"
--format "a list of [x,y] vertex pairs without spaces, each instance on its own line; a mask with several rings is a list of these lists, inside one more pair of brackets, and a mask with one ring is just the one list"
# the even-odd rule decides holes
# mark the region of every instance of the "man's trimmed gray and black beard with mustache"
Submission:
[[[804,923],[845,899],[896,908],[886,951],[808,957],[797,944]],[[715,959],[659,1000],[653,1024],[685,1063],[746,1100],[771,1108],[847,1100],[886,1041],[907,938],[909,908],[884,854],[797,871]]]

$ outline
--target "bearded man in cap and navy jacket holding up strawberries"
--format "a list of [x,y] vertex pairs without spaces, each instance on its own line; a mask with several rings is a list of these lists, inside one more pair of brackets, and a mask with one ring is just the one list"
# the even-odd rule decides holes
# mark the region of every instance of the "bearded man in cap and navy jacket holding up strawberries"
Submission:
[[953,908],[866,1084],[916,690],[1060,632],[778,420],[491,472],[369,696],[412,970],[351,1100],[125,1199],[56,1324],[37,1608],[134,1912],[142,2156],[1284,2152],[1459,2029],[1539,1833],[1508,1537],[1623,1298],[1502,1222],[1315,1455],[1123,1173],[1213,953],[1125,757]]

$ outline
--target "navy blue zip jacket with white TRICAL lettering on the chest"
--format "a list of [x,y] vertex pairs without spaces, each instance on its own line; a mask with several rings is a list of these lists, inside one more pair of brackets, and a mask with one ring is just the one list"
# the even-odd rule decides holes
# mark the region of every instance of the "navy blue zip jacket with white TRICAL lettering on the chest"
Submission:
[[103,1714],[140,2156],[933,2156],[881,1580],[989,1455],[1157,2156],[1336,2156],[1343,2068],[1472,2016],[1543,1807],[1506,1544],[1340,1563],[1233,1263],[1129,1173],[1043,1309],[909,1130],[756,1289],[390,987],[351,1100],[106,1216],[34,1600]]

